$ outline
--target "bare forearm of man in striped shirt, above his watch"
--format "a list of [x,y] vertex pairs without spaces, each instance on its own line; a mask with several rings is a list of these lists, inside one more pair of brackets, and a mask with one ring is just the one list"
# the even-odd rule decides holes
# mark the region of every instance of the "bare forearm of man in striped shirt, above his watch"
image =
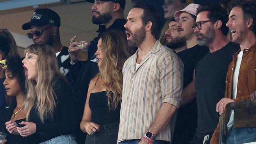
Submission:
[[155,136],[160,133],[170,122],[173,114],[176,112],[177,107],[169,103],[163,103],[156,115],[152,126],[149,127],[148,131],[151,131]]

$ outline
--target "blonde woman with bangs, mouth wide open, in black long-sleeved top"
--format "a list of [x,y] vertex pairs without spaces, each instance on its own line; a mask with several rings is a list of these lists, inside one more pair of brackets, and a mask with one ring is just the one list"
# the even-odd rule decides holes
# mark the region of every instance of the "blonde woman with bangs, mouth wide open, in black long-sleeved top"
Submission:
[[[71,88],[59,72],[56,54],[45,44],[32,44],[23,59],[27,99],[26,122],[17,127],[22,137],[39,134],[40,144],[76,144],[75,106]],[[33,143],[33,142],[30,142]]]

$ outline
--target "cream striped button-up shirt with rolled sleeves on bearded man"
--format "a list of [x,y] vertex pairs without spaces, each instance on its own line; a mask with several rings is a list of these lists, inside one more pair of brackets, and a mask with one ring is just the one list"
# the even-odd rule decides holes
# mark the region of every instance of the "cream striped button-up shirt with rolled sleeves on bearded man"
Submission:
[[[136,69],[138,51],[123,66],[123,90],[118,141],[141,139],[153,124],[163,103],[179,107],[183,63],[169,48],[156,41]],[[155,140],[171,141],[171,122]]]

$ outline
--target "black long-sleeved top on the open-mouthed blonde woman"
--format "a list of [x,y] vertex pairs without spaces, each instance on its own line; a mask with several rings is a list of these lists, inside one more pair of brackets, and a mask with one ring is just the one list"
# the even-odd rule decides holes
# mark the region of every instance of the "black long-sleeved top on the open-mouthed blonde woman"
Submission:
[[36,133],[40,135],[40,142],[45,142],[60,135],[74,134],[78,129],[72,90],[63,78],[56,77],[54,81],[53,90],[56,94],[56,108],[53,116],[42,123],[36,107],[34,106],[30,111],[29,120],[36,124]]

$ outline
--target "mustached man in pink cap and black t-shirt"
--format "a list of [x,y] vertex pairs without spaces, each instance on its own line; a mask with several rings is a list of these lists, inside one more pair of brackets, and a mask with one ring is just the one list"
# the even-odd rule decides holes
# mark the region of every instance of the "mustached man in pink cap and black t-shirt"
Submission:
[[197,44],[197,37],[192,29],[193,24],[195,24],[198,6],[198,4],[189,4],[174,15],[178,22],[176,24],[178,30],[176,31],[178,31],[179,39],[186,43],[187,48],[182,51],[175,50],[184,64],[184,89],[172,144],[189,144],[197,127],[197,102],[195,100],[193,73],[198,61],[209,51],[208,47]]

